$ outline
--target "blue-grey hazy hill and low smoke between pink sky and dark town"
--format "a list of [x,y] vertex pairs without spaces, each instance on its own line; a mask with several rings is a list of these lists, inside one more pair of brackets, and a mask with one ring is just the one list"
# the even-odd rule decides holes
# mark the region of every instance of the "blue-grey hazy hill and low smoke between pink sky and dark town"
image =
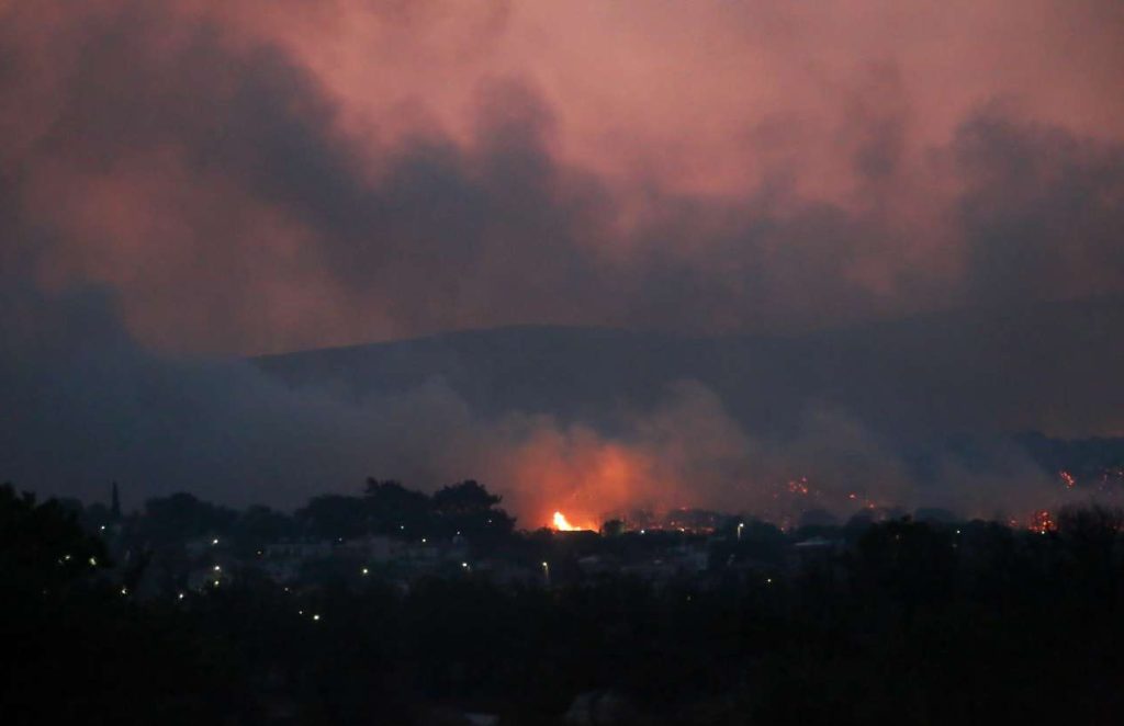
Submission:
[[[1112,430],[1121,410],[1089,383],[1121,363],[1116,300],[1023,328],[959,314],[797,337],[509,328],[241,362],[146,352],[98,296],[27,299],[34,325],[3,336],[6,475],[87,498],[118,479],[138,498],[292,506],[366,475],[474,477],[525,526],[559,507],[844,516],[856,500],[991,516],[1063,493],[1008,434]],[[801,478],[812,496],[778,502]]]

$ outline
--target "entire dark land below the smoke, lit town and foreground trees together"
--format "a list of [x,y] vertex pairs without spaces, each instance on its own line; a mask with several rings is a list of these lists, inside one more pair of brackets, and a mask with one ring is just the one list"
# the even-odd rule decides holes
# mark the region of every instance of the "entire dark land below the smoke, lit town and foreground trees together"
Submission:
[[[1124,706],[1118,507],[1017,526],[867,509],[783,529],[676,510],[592,532],[520,530],[500,503],[472,480],[425,494],[372,479],[291,515],[188,493],[126,512],[116,485],[88,505],[4,485],[0,637],[20,668],[0,695],[12,723],[263,726],[822,723],[840,708],[849,723],[1100,723]],[[83,696],[53,699],[52,683]]]

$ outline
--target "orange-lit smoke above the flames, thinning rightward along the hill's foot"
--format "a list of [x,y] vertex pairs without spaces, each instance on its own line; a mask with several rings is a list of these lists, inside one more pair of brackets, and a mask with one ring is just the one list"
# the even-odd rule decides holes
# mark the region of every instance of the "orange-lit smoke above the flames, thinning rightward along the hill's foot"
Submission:
[[890,439],[841,411],[809,408],[783,436],[749,434],[695,381],[669,388],[643,416],[605,435],[551,417],[505,416],[478,464],[524,521],[554,510],[586,526],[636,510],[703,508],[794,524],[807,510],[841,520],[863,508],[942,508],[966,517],[1025,519],[1073,500],[1010,442],[966,461],[940,452],[922,474]]

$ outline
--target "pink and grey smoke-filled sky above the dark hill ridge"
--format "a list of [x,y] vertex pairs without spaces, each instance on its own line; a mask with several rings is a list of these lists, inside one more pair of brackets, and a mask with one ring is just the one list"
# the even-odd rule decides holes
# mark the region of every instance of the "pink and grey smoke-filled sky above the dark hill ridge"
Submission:
[[1122,76],[1112,0],[0,0],[0,391],[44,421],[0,452],[26,479],[106,436],[40,466],[85,492],[194,461],[137,443],[190,430],[244,479],[308,435],[191,418],[247,397],[248,429],[296,407],[368,447],[369,412],[271,398],[262,353],[1120,294]]

